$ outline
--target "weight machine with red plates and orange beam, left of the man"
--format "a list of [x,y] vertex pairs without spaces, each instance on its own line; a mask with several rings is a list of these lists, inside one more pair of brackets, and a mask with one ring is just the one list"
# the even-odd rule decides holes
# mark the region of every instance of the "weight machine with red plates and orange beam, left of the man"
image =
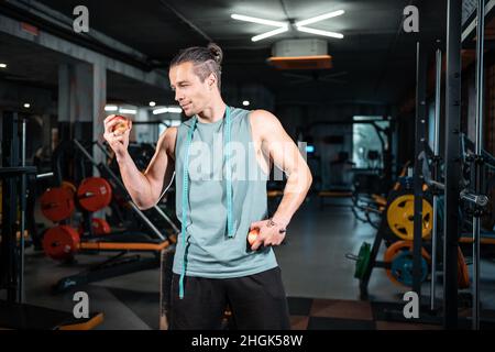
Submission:
[[[178,229],[175,223],[169,219],[169,217],[156,205],[153,210],[162,217],[162,219],[172,229],[172,233],[167,234],[162,228],[158,229],[150,218],[141,211],[138,206],[132,201],[128,195],[124,185],[120,178],[112,172],[112,169],[106,163],[97,163],[95,158],[88,153],[88,151],[82,146],[82,144],[74,140],[73,142],[64,142],[66,147],[74,146],[74,157],[81,165],[81,175],[86,175],[84,161],[89,161],[92,166],[95,166],[102,177],[107,179],[105,184],[108,184],[106,188],[109,188],[105,194],[119,193],[125,205],[136,216],[139,222],[141,222],[146,229],[146,232],[138,230],[124,230],[114,231],[110,233],[94,233],[94,221],[91,219],[91,213],[89,211],[82,211],[84,213],[84,229],[86,232],[79,238],[75,230],[68,227],[59,226],[59,231],[56,235],[51,237],[48,240],[44,240],[45,249],[50,249],[53,257],[61,258],[72,258],[76,252],[110,252],[117,253],[110,258],[103,261],[102,263],[90,266],[88,270],[70,275],[68,277],[61,278],[54,286],[55,293],[65,292],[67,289],[74,289],[79,285],[85,285],[91,282],[114,277],[118,275],[124,275],[129,273],[134,273],[142,270],[154,268],[160,266],[161,252],[168,246],[173,246],[176,241],[176,234]],[[70,145],[68,145],[69,143]],[[95,143],[107,156],[108,153],[105,147],[99,143]],[[59,157],[56,157],[54,163],[58,164]],[[55,166],[55,174],[57,179],[62,179],[59,174],[59,167]],[[85,178],[88,180],[88,178]],[[78,202],[82,206],[84,200],[96,198],[97,196],[102,196],[99,194],[101,185],[95,188],[95,190],[89,189],[88,191],[81,191],[84,182],[79,186],[77,191]],[[111,196],[110,196],[111,197]],[[91,202],[94,202],[91,200]],[[87,208],[87,207],[86,207]],[[51,229],[52,230],[52,229]],[[48,230],[48,231],[51,231]],[[70,231],[72,230],[72,231]],[[164,235],[165,233],[165,235]],[[46,244],[46,242],[50,242]],[[67,253],[67,246],[70,248],[69,253]],[[64,253],[63,253],[64,252]],[[145,252],[151,253],[151,256],[142,256],[140,254],[127,255],[128,253]],[[55,255],[54,255],[55,254]],[[67,255],[69,257],[67,257]]]

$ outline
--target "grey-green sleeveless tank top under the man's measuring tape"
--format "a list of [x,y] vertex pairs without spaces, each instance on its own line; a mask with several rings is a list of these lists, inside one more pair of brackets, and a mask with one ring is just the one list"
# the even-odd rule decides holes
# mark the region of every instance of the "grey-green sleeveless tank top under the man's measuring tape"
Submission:
[[[173,266],[173,272],[179,275],[231,278],[277,266],[272,248],[253,252],[246,241],[250,224],[267,217],[268,176],[256,161],[250,111],[230,109],[233,237],[227,233],[227,163],[223,160],[226,119],[213,123],[197,120],[189,146],[185,239],[182,238],[183,234],[177,239]],[[176,215],[180,221],[184,163],[188,132],[194,125],[194,119],[196,117],[178,127],[176,138]]]

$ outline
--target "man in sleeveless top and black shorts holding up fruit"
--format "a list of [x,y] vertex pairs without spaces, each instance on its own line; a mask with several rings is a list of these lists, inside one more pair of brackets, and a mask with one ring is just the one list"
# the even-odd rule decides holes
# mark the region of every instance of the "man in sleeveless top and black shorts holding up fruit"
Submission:
[[[157,204],[164,184],[176,173],[182,233],[173,266],[170,328],[218,329],[229,305],[238,329],[289,329],[272,246],[284,240],[311,174],[276,117],[226,106],[220,94],[221,61],[216,44],[189,47],[172,61],[175,100],[190,119],[160,136],[144,174],[127,151],[130,129],[112,132],[119,123],[113,116],[105,121],[105,138],[141,209]],[[277,211],[266,219],[272,163],[286,173],[287,184]],[[258,235],[250,245],[246,238],[253,229]]]

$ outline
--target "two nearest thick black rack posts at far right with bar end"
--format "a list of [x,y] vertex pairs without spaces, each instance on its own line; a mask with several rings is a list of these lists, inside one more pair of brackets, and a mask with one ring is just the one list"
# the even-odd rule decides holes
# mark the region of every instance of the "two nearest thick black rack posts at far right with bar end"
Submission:
[[[483,114],[484,114],[484,19],[485,1],[477,1],[476,11],[476,66],[475,66],[475,142],[471,147],[471,153],[465,153],[465,139],[460,135],[461,125],[461,21],[458,21],[462,13],[462,3],[459,0],[451,0],[448,13],[447,36],[449,43],[446,72],[446,155],[444,155],[444,183],[433,179],[436,185],[444,194],[446,227],[443,229],[443,288],[444,288],[444,328],[458,328],[458,290],[455,280],[455,262],[459,270],[459,248],[458,234],[462,232],[463,224],[458,219],[460,209],[464,213],[472,216],[472,238],[473,238],[473,279],[472,279],[472,329],[480,329],[480,245],[482,243],[481,217],[485,212],[485,202],[482,189],[483,170],[491,158],[484,156],[483,151]],[[439,99],[438,99],[439,100]],[[461,139],[460,139],[461,136]],[[480,202],[480,200],[482,202]],[[461,208],[463,207],[463,208]],[[461,266],[462,268],[462,266]],[[458,282],[459,284],[459,282]],[[435,287],[435,286],[433,286]],[[433,296],[433,295],[432,295]]]

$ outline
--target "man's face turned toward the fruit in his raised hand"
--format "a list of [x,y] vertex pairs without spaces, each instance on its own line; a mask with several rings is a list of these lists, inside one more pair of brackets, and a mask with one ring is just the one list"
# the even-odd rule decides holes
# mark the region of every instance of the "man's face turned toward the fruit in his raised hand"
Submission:
[[211,81],[201,82],[194,72],[193,63],[183,63],[170,68],[168,73],[175,100],[180,105],[187,117],[201,112],[210,101]]

